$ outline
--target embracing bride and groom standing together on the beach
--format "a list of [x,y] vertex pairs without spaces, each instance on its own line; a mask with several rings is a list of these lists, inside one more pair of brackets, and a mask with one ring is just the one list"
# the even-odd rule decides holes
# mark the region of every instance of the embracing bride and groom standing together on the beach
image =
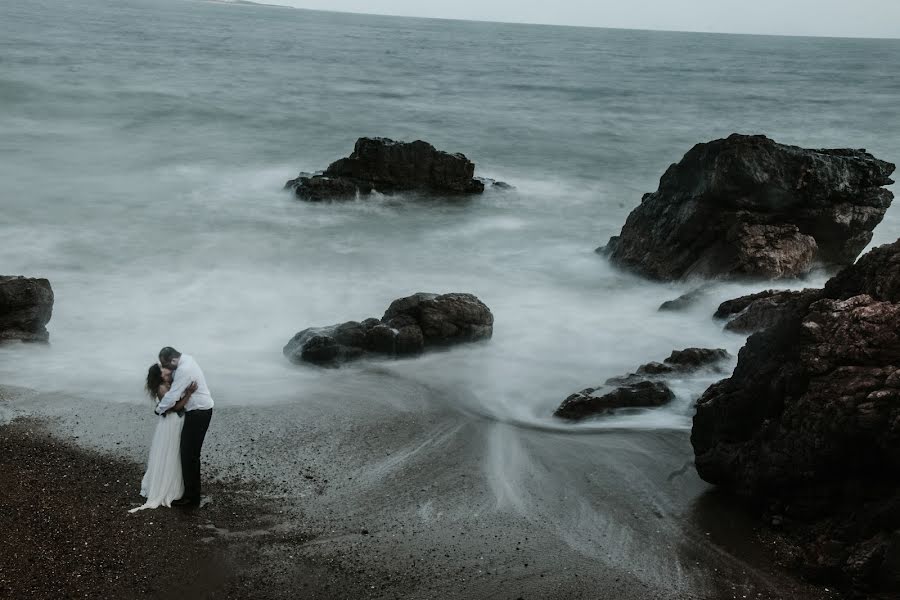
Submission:
[[147,372],[147,393],[159,415],[141,496],[129,512],[159,506],[200,506],[200,450],[212,418],[213,399],[193,357],[168,346]]

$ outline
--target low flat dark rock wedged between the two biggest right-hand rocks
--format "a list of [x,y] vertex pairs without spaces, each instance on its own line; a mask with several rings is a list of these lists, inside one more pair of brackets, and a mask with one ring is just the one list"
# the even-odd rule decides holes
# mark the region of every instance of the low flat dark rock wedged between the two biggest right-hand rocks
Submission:
[[717,319],[728,319],[725,329],[735,333],[753,333],[771,327],[785,315],[791,314],[795,303],[809,302],[821,295],[821,290],[766,290],[719,305]]

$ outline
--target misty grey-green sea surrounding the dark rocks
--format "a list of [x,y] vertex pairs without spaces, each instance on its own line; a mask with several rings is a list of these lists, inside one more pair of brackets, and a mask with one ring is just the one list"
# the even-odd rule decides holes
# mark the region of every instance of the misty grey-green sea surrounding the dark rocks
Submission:
[[[173,345],[220,406],[391,397],[407,381],[473,417],[554,427],[571,392],[674,348],[743,343],[709,315],[752,286],[661,314],[686,286],[593,252],[665,168],[735,131],[898,161],[898,64],[898,41],[3,2],[0,272],[49,278],[56,306],[52,345],[0,349],[0,380],[144,402],[147,365]],[[281,190],[362,135],[463,152],[516,190],[324,205]],[[898,225],[894,207],[875,243]],[[281,356],[302,328],[417,291],[478,295],[494,339],[338,372]],[[689,427],[713,379],[582,428]]]

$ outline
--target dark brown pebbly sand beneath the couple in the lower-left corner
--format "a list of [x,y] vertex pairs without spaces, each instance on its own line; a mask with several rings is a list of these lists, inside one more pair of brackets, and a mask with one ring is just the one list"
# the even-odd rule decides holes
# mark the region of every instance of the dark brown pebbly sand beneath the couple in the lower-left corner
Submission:
[[380,597],[379,573],[304,555],[309,536],[240,482],[209,485],[218,502],[198,510],[128,514],[138,463],[22,418],[0,426],[0,453],[2,598]]

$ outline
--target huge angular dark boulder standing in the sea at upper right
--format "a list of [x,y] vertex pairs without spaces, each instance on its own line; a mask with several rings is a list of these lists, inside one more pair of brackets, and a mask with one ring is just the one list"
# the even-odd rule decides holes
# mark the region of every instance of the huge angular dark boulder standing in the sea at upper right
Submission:
[[733,134],[697,144],[602,249],[653,279],[793,277],[851,264],[893,194],[894,165],[865,150],[808,150]]

